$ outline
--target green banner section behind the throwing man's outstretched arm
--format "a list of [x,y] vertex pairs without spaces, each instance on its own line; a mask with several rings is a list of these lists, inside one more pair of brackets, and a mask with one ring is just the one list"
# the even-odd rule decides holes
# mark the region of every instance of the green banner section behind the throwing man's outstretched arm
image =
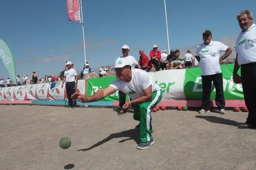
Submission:
[[[113,81],[115,81],[115,79],[117,78],[107,77],[107,78],[88,79],[86,96],[87,97],[92,96],[97,91],[107,88]],[[128,96],[126,96],[126,100],[128,101]],[[119,93],[117,91],[114,94],[111,94],[100,101],[112,101],[112,102],[119,101]]]

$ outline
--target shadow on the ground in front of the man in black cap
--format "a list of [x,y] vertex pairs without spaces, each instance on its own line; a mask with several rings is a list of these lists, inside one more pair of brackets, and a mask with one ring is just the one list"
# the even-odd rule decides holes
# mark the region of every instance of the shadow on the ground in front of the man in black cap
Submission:
[[203,119],[205,119],[209,122],[213,122],[213,123],[225,124],[225,125],[236,126],[236,127],[238,127],[240,124],[243,124],[243,123],[238,123],[234,120],[229,120],[229,119],[220,118],[220,117],[216,117],[216,116],[195,116],[195,117],[203,118]]

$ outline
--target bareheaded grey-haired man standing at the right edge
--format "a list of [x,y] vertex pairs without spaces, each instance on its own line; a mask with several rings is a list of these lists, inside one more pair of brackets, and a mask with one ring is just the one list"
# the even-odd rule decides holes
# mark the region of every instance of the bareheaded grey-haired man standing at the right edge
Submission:
[[[234,83],[242,83],[248,117],[241,129],[256,127],[256,25],[253,23],[252,11],[241,11],[237,15],[241,33],[237,37],[235,65],[233,70]],[[241,66],[241,77],[237,71]]]

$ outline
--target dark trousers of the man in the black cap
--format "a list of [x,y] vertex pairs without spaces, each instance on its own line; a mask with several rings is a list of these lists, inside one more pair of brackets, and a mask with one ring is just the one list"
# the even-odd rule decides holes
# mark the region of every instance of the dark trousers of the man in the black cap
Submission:
[[203,86],[203,97],[202,97],[202,108],[205,110],[210,109],[210,96],[211,96],[211,86],[212,81],[216,89],[215,103],[218,106],[218,109],[225,108],[225,99],[223,92],[223,78],[222,73],[217,73],[209,76],[202,77],[202,86]]

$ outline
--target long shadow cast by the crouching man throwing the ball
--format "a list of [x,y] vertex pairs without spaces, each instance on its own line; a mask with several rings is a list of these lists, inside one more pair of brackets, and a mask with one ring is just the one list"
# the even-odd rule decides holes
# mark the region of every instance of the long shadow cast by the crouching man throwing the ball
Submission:
[[139,139],[139,130],[138,129],[130,129],[127,131],[122,131],[119,133],[112,133],[111,135],[109,135],[109,137],[103,139],[102,141],[92,145],[90,148],[85,148],[85,149],[81,149],[78,151],[88,151],[91,150],[97,146],[100,146],[102,144],[104,144],[105,142],[114,139],[114,138],[122,138],[122,137],[128,137],[128,139],[123,139],[120,140],[119,143],[125,142],[126,140],[134,140],[137,144],[140,144],[140,139]]

